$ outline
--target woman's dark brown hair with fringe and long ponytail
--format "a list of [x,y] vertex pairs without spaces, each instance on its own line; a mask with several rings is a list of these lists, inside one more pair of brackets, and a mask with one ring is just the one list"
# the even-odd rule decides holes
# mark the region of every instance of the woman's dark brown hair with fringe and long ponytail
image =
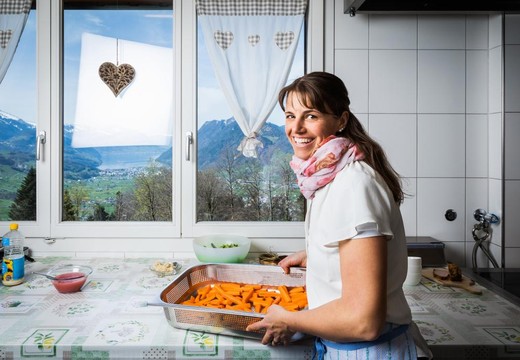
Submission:
[[312,72],[294,80],[278,94],[278,103],[284,111],[289,93],[295,93],[306,107],[324,114],[340,118],[347,112],[347,125],[336,135],[353,141],[365,154],[364,161],[383,177],[394,200],[397,203],[403,201],[399,174],[390,165],[381,145],[368,135],[359,119],[350,112],[348,90],[340,78],[327,72]]

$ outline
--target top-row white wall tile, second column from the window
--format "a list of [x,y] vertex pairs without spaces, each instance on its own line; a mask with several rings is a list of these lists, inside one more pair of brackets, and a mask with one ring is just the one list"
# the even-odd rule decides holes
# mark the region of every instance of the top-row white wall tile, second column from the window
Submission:
[[417,49],[417,16],[371,15],[371,49]]

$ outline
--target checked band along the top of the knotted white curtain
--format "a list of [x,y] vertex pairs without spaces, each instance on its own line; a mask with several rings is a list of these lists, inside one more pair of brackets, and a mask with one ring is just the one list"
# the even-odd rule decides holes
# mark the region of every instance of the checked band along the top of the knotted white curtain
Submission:
[[294,16],[304,15],[307,0],[199,0],[197,15]]

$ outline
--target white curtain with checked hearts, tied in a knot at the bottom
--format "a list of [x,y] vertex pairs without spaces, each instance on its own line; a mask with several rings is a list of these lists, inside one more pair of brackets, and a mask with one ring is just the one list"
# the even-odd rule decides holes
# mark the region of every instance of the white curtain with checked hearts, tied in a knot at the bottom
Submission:
[[286,84],[307,0],[198,0],[197,15],[216,77],[244,134],[238,150],[257,157],[258,131]]

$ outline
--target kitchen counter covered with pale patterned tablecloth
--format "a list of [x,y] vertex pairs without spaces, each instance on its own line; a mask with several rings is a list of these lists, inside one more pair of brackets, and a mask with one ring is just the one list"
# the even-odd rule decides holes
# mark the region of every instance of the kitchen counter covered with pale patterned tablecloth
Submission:
[[[94,268],[82,291],[74,294],[60,294],[48,279],[27,275],[69,259],[26,263],[23,284],[0,285],[0,359],[312,358],[311,339],[271,347],[171,327],[161,307],[146,304],[177,275],[158,277],[149,270],[153,261],[74,259]],[[177,261],[183,268],[196,263]],[[520,357],[520,307],[513,302],[487,289],[473,295],[425,278],[405,287],[405,293],[436,360]]]

